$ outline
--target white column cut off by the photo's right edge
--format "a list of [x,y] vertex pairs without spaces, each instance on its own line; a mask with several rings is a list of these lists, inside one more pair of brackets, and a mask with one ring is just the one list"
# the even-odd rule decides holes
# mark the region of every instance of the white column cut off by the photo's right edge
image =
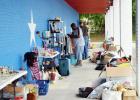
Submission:
[[136,67],[137,67],[137,91],[140,97],[140,0],[137,0],[137,41],[136,41]]

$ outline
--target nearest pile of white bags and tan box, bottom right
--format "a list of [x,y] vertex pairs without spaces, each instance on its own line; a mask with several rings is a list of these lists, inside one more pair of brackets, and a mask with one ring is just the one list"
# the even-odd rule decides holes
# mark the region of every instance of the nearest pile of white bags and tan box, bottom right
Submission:
[[97,86],[89,95],[89,99],[102,100],[136,100],[135,88],[130,82],[108,81]]

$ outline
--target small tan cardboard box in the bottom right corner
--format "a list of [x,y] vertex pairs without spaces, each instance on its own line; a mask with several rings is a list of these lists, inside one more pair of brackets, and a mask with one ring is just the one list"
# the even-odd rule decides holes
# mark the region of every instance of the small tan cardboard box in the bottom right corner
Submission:
[[123,100],[137,100],[135,90],[127,90],[123,92]]

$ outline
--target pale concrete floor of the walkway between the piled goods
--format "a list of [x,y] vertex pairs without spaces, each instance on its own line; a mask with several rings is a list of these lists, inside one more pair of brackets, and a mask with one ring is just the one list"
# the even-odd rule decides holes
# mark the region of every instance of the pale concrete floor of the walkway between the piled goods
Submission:
[[[92,51],[96,50],[99,49]],[[100,71],[95,71],[95,67],[96,65],[90,63],[89,60],[85,60],[82,67],[71,66],[70,76],[58,80],[55,84],[50,84],[48,94],[39,97],[38,100],[88,100],[78,98],[76,94],[79,87],[92,86],[92,81],[98,79]],[[105,72],[101,77],[105,77]]]

